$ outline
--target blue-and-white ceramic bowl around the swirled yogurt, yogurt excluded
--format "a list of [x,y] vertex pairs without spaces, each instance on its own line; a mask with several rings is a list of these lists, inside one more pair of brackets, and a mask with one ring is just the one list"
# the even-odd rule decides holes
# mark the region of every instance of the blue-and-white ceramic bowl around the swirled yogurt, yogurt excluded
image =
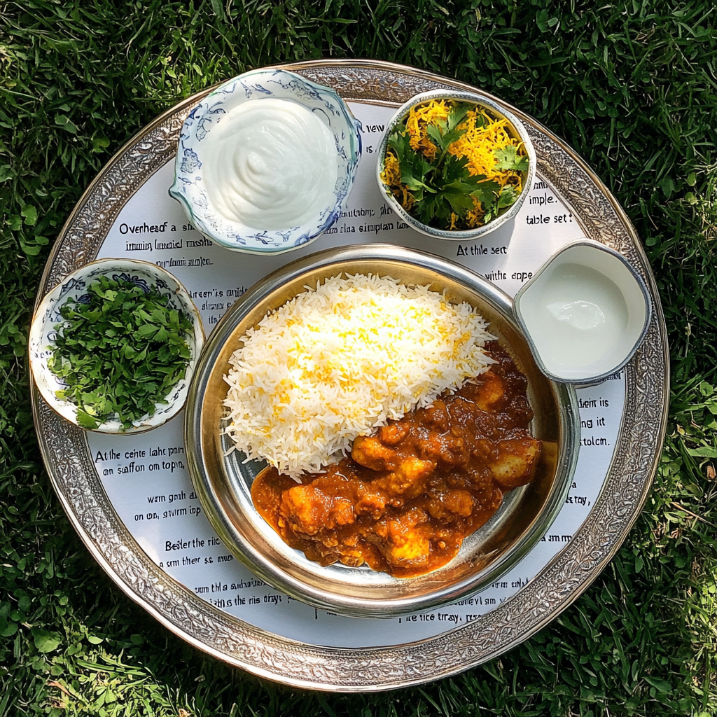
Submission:
[[[333,134],[338,174],[333,201],[296,227],[248,227],[222,217],[212,207],[202,170],[207,152],[202,142],[238,105],[267,98],[293,100],[314,113]],[[346,201],[361,156],[361,123],[334,90],[286,70],[254,70],[217,87],[189,113],[179,137],[174,184],[169,194],[179,199],[189,220],[212,242],[241,252],[275,254],[308,244],[336,222]]]

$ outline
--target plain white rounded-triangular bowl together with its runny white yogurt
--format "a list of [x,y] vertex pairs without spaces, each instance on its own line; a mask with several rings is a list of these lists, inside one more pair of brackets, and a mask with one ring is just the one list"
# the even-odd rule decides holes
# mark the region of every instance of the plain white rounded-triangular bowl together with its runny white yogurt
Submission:
[[650,323],[650,295],[617,252],[584,240],[552,257],[513,308],[538,366],[556,381],[589,383],[627,364]]

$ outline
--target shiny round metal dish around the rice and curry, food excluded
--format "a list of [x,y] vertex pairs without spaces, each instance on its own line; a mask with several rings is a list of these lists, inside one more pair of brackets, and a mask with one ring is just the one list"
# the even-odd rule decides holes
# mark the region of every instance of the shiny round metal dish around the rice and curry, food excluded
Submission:
[[[341,272],[390,276],[407,285],[447,290],[453,303],[467,301],[490,320],[528,378],[535,417],[533,435],[543,460],[532,483],[506,493],[503,505],[465,539],[447,565],[422,576],[394,578],[365,566],[320,566],[287,546],[252,505],[252,480],[262,463],[226,455],[222,435],[229,356],[247,329],[305,285]],[[185,440],[189,472],[206,515],[227,549],[262,580],[314,607],[355,617],[394,617],[437,607],[488,587],[546,533],[565,502],[578,454],[579,416],[571,386],[543,376],[513,319],[511,299],[490,282],[453,262],[389,244],[318,252],[292,262],[255,284],[217,324],[202,352],[189,390]]]

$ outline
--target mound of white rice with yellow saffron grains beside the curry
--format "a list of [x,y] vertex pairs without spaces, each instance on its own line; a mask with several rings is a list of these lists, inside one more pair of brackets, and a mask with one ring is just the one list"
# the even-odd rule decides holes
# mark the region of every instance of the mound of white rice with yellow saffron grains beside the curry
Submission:
[[351,442],[488,370],[494,336],[467,303],[374,275],[327,279],[247,331],[224,380],[226,432],[280,473],[341,460]]

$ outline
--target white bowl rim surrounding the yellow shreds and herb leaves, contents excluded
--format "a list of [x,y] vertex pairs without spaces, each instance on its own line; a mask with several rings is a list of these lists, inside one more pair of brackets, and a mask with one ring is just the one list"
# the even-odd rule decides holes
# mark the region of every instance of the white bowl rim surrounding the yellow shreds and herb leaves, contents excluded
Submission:
[[[462,100],[464,102],[475,103],[475,105],[481,105],[483,108],[487,109],[490,114],[498,115],[500,118],[505,118],[508,120],[508,123],[510,123],[513,133],[520,139],[523,146],[526,148],[526,152],[528,153],[528,171],[526,172],[526,178],[523,182],[523,191],[521,191],[521,194],[518,195],[518,199],[516,199],[514,204],[508,207],[506,212],[500,214],[499,217],[492,219],[488,222],[488,224],[475,227],[475,229],[450,231],[448,229],[428,227],[426,224],[419,222],[419,220],[415,217],[412,217],[411,214],[403,208],[401,203],[396,199],[396,197],[394,197],[393,194],[391,194],[391,191],[381,179],[381,172],[384,171],[384,159],[386,158],[386,147],[388,146],[389,135],[394,130],[396,125],[398,125],[405,118],[405,116],[409,113],[409,110],[417,105],[422,105],[430,100],[442,99]],[[381,145],[379,146],[379,159],[376,162],[376,181],[379,183],[379,191],[381,191],[381,196],[383,196],[384,199],[391,204],[391,209],[393,209],[394,212],[396,212],[399,217],[404,220],[404,222],[407,222],[407,224],[410,224],[411,227],[416,229],[417,232],[426,234],[428,237],[448,239],[449,241],[454,242],[461,242],[466,239],[478,239],[478,237],[490,234],[490,232],[495,231],[495,229],[498,229],[498,227],[503,226],[503,224],[513,219],[513,217],[518,214],[518,210],[521,208],[523,201],[526,200],[526,196],[528,196],[528,190],[533,185],[535,174],[536,151],[535,148],[533,148],[530,136],[528,136],[528,130],[526,130],[525,125],[523,125],[521,120],[519,120],[516,115],[513,115],[510,111],[502,108],[498,105],[498,103],[495,103],[485,95],[481,95],[478,92],[460,92],[459,90],[429,90],[429,92],[420,92],[418,95],[414,95],[414,97],[412,97],[407,103],[401,105],[386,125],[386,132],[384,133],[384,138],[381,140]]]

